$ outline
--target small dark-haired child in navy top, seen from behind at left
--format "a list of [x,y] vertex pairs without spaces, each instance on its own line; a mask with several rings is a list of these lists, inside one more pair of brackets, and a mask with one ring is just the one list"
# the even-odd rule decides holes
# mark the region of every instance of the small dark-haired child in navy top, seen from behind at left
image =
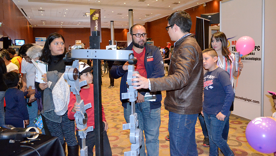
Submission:
[[8,87],[5,93],[5,124],[24,128],[25,124],[29,125],[30,122],[25,100],[25,96],[28,92],[23,92],[17,88],[19,85],[19,75],[14,71],[5,73],[3,75],[3,80]]

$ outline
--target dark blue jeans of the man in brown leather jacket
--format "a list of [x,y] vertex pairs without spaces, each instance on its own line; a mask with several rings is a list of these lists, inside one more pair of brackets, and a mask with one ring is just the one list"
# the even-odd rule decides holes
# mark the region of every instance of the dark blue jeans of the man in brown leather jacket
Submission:
[[195,123],[198,114],[183,115],[169,112],[171,156],[198,156],[195,143]]

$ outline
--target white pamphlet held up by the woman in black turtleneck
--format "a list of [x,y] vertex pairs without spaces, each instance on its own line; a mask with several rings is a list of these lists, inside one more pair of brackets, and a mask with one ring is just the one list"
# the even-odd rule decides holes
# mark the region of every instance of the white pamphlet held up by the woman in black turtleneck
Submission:
[[35,82],[45,83],[43,81],[44,79],[43,79],[42,75],[44,75],[44,73],[47,73],[48,63],[40,61],[40,60],[34,61],[33,59],[32,59],[32,62],[34,64],[34,66],[36,67],[36,69],[35,69]]

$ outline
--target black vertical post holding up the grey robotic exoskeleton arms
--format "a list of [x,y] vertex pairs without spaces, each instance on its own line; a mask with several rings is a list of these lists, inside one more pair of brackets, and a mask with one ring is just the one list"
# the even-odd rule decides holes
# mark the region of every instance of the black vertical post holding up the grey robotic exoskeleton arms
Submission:
[[[100,49],[100,36],[98,32],[92,32],[90,36],[91,49]],[[92,47],[90,46],[90,47]],[[95,51],[97,53],[97,51]],[[96,156],[104,155],[103,148],[103,124],[101,111],[101,60],[93,59],[93,84],[94,84],[94,120],[95,120],[95,153]],[[90,149],[92,150],[92,149]]]

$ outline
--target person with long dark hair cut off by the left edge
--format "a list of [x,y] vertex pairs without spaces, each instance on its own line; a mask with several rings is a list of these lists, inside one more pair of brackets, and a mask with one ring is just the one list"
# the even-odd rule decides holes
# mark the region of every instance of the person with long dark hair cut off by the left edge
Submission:
[[7,86],[3,81],[4,73],[7,73],[7,68],[4,60],[0,57],[0,127],[5,125],[4,96],[7,90]]

